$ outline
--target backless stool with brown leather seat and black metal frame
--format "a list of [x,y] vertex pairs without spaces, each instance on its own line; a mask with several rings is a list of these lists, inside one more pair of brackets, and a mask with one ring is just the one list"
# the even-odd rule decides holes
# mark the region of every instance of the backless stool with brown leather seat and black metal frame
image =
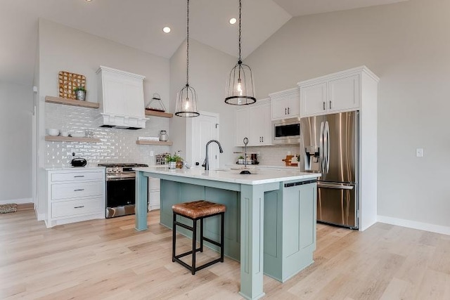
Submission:
[[[206,268],[207,266],[211,266],[214,263],[224,262],[224,213],[226,211],[226,207],[223,204],[217,204],[212,202],[207,202],[205,200],[198,200],[194,202],[184,202],[179,204],[172,205],[172,211],[174,212],[174,220],[172,226],[172,261],[177,261],[181,263],[182,266],[185,266],[189,270],[191,270],[192,275],[195,275],[195,272]],[[187,226],[184,223],[180,223],[176,221],[176,216],[184,216],[185,218],[191,219],[193,221],[193,226]],[[220,215],[220,242],[216,242],[210,240],[207,237],[203,236],[203,219],[209,218],[210,216]],[[197,221],[200,220],[200,248],[197,249]],[[183,254],[176,255],[176,226],[181,226],[188,230],[192,231],[192,250],[188,252],[184,252]],[[195,267],[195,253],[200,251],[203,252],[203,241],[210,242],[211,244],[215,244],[220,247],[220,258],[214,259],[214,261],[210,261],[209,263],[205,263],[202,266]],[[186,255],[192,254],[192,265],[189,266],[184,261],[181,261],[180,258]]]

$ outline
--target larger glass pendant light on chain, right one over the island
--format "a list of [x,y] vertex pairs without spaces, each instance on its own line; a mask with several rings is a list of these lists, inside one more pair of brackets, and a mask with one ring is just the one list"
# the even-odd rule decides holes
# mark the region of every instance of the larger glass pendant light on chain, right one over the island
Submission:
[[231,105],[248,105],[256,102],[253,90],[252,69],[242,63],[240,58],[240,11],[242,8],[239,0],[239,60],[231,69],[229,81],[226,86],[225,103]]

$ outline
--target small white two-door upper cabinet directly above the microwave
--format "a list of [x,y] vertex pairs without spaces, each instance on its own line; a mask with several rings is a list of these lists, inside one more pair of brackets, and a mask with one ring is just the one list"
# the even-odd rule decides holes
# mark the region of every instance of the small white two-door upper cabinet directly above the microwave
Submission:
[[290,119],[300,115],[299,89],[288,89],[276,93],[270,93],[272,103],[271,119]]

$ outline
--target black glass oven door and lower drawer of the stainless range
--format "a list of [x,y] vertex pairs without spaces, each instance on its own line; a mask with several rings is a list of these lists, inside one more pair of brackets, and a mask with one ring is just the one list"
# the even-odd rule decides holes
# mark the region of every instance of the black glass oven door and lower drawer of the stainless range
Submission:
[[115,178],[106,181],[106,218],[135,214],[136,178]]

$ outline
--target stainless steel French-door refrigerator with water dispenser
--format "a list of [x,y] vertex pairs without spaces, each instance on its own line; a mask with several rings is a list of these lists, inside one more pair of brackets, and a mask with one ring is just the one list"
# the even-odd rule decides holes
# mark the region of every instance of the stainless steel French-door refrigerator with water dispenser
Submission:
[[300,168],[322,174],[317,221],[358,228],[359,112],[302,118],[300,135]]

